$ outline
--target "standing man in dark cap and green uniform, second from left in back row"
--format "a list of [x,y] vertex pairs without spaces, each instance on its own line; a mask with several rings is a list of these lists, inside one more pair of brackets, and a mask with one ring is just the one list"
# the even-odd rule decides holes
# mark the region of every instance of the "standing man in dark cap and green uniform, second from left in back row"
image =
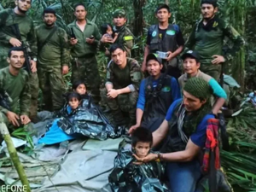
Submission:
[[67,33],[55,25],[54,9],[44,9],[44,24],[36,28],[38,40],[38,79],[44,95],[44,110],[56,111],[63,107],[68,73],[69,51]]

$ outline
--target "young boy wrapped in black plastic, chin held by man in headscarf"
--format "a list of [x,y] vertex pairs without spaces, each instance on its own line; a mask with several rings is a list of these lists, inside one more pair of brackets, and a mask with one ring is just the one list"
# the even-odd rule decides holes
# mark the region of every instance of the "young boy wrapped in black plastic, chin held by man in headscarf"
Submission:
[[122,149],[119,152],[114,160],[113,171],[108,177],[113,191],[141,192],[148,191],[149,188],[154,189],[150,191],[168,191],[162,185],[164,166],[158,160],[143,164],[134,158],[134,155],[141,158],[147,156],[152,143],[152,132],[148,129],[139,127],[132,132],[131,149]]

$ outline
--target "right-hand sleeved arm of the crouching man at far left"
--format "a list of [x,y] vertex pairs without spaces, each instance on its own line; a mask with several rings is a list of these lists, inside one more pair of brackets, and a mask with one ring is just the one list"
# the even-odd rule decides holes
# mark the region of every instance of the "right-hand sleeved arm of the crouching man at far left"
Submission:
[[26,83],[20,94],[20,114],[29,115],[31,105],[31,93],[29,84]]

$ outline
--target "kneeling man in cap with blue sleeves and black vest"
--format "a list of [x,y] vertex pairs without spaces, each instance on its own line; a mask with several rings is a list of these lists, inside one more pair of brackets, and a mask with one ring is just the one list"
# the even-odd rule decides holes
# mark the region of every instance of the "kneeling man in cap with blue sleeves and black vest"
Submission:
[[143,79],[137,101],[136,125],[131,126],[130,133],[137,127],[147,127],[155,131],[166,117],[172,102],[181,96],[177,80],[161,73],[163,64],[155,54],[149,54],[146,65],[150,76]]

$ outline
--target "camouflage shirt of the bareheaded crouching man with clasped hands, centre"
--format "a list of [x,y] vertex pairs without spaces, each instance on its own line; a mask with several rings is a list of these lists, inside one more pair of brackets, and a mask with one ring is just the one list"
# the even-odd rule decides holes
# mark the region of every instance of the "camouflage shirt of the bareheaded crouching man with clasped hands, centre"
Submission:
[[129,86],[131,92],[138,91],[141,80],[141,67],[136,60],[127,58],[126,66],[122,69],[111,61],[108,67],[106,84],[113,84],[113,89],[122,89]]

